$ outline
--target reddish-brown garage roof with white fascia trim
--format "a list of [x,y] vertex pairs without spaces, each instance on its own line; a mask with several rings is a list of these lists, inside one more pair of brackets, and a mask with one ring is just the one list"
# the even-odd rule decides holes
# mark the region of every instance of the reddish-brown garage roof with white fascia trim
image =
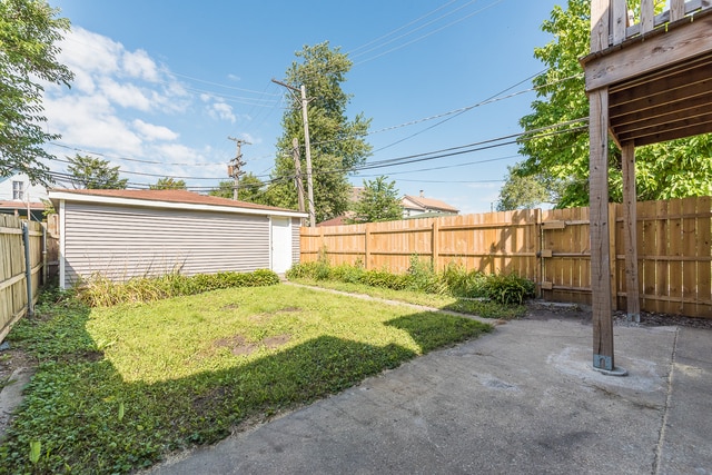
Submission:
[[274,206],[256,205],[247,201],[236,201],[216,196],[199,195],[186,190],[102,190],[102,189],[51,189],[49,197],[57,206],[57,201],[83,201],[127,206],[146,206],[157,208],[181,208],[222,210],[235,212],[306,217],[306,214],[293,209]]

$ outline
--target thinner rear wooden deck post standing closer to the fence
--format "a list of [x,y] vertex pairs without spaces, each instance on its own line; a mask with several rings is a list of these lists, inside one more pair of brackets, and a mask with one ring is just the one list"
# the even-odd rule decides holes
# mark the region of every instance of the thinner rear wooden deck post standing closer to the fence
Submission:
[[623,154],[623,229],[625,246],[625,300],[627,320],[641,320],[640,289],[637,283],[637,196],[635,191],[635,146],[625,142]]

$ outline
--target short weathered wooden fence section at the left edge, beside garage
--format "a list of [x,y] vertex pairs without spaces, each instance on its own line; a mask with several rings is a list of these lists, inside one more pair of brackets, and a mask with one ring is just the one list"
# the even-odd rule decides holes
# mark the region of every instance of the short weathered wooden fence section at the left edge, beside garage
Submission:
[[47,241],[41,224],[0,215],[0,342],[17,320],[32,313],[47,279]]

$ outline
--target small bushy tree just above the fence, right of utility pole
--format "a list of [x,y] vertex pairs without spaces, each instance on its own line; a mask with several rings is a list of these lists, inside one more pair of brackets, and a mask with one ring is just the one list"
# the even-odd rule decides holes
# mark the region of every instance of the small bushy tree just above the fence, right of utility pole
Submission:
[[395,181],[386,181],[380,176],[375,180],[364,180],[364,191],[354,205],[354,217],[349,224],[393,221],[403,219],[403,205],[398,199]]

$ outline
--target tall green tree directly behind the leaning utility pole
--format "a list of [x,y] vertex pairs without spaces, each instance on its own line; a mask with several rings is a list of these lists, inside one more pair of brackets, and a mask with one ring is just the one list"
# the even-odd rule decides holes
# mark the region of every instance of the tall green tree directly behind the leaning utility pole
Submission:
[[[346,81],[352,61],[339,48],[330,49],[327,41],[305,46],[296,56],[299,60],[287,69],[285,81],[295,88],[306,86],[315,214],[316,220],[323,221],[343,215],[348,208],[350,185],[347,177],[349,170],[362,165],[370,152],[370,146],[364,139],[370,119],[363,113],[350,120],[346,116],[352,96],[344,92],[342,83]],[[293,98],[291,93],[289,97]],[[281,127],[284,132],[277,141],[269,194],[273,205],[294,209],[298,200],[291,141],[296,137],[301,147],[305,144],[301,109],[296,101],[295,107],[285,112]],[[301,175],[306,186],[304,157],[303,148]]]

